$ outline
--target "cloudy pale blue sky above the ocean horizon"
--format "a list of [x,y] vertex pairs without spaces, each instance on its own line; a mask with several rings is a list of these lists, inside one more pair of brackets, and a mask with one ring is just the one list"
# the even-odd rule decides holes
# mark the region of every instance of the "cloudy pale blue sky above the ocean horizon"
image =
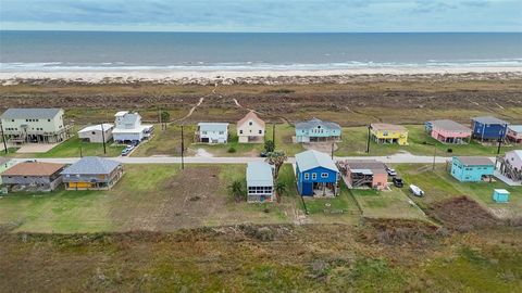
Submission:
[[522,0],[0,0],[1,29],[522,31]]

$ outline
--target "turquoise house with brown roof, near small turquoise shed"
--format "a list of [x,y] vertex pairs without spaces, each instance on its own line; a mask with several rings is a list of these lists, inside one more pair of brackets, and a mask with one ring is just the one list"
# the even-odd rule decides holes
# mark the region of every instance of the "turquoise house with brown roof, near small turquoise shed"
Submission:
[[462,182],[478,182],[493,176],[495,164],[484,156],[453,156],[451,176]]

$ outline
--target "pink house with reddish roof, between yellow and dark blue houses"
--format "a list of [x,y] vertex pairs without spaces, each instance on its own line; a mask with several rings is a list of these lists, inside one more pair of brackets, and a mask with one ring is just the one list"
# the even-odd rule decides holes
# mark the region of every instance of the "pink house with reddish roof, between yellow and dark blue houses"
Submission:
[[425,124],[432,138],[448,144],[468,143],[471,139],[471,128],[448,119],[432,120]]

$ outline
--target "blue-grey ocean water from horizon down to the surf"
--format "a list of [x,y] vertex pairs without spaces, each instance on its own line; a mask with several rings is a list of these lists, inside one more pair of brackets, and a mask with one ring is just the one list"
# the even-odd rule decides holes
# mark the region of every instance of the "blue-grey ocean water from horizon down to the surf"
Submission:
[[0,71],[522,66],[522,34],[0,31]]

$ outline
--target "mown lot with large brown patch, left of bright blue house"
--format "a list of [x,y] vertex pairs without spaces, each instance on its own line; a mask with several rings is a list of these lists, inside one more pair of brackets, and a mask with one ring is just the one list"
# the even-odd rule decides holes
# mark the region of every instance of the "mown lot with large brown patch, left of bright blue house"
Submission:
[[279,204],[235,203],[227,186],[244,180],[245,165],[128,165],[110,191],[9,194],[0,199],[0,224],[16,231],[173,231],[244,221],[293,222],[298,214],[291,168],[282,178],[288,194]]

